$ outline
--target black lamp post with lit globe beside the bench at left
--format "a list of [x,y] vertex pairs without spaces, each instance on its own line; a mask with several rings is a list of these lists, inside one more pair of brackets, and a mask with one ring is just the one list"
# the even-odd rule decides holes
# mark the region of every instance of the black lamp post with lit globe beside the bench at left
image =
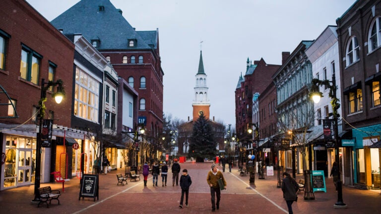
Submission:
[[[46,85],[46,86],[45,86]],[[41,183],[41,154],[42,154],[42,123],[45,115],[45,102],[47,100],[46,98],[46,91],[50,87],[57,87],[57,92],[52,94],[52,97],[55,98],[56,103],[60,104],[64,98],[64,87],[63,87],[63,81],[57,80],[57,82],[49,81],[45,82],[45,79],[41,79],[41,96],[39,101],[39,127],[38,127],[38,133],[37,133],[37,145],[36,145],[36,169],[35,169],[35,182],[34,182],[34,199],[33,202],[39,202],[40,201],[40,194],[38,191],[38,188],[40,188]]]

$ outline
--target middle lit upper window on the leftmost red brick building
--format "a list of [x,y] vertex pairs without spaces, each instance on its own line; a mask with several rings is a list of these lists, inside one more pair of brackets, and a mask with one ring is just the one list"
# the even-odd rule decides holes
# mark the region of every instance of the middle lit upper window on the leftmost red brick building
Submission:
[[40,54],[23,46],[21,50],[20,77],[38,85],[41,58]]

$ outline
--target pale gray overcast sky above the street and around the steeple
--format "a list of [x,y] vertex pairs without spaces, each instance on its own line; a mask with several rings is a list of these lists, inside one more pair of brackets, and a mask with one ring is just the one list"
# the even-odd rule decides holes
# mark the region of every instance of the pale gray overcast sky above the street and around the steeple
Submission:
[[[79,0],[27,0],[51,21]],[[137,31],[159,29],[164,113],[192,117],[200,41],[210,117],[235,126],[235,90],[246,61],[281,64],[302,40],[336,25],[355,0],[111,0]]]

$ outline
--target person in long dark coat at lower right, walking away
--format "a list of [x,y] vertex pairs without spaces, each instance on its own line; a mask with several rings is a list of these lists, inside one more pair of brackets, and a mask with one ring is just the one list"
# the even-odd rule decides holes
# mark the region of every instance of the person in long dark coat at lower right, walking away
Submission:
[[283,197],[284,200],[286,200],[288,213],[293,214],[292,212],[292,203],[296,200],[297,196],[296,193],[299,190],[299,185],[295,181],[294,178],[290,176],[289,173],[284,172],[283,173],[283,181],[282,181],[282,191],[283,191]]

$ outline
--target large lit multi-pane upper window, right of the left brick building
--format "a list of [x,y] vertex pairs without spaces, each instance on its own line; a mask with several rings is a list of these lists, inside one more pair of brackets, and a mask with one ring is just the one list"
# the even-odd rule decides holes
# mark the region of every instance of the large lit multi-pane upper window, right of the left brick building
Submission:
[[98,121],[100,83],[88,73],[75,68],[74,115],[90,121]]

